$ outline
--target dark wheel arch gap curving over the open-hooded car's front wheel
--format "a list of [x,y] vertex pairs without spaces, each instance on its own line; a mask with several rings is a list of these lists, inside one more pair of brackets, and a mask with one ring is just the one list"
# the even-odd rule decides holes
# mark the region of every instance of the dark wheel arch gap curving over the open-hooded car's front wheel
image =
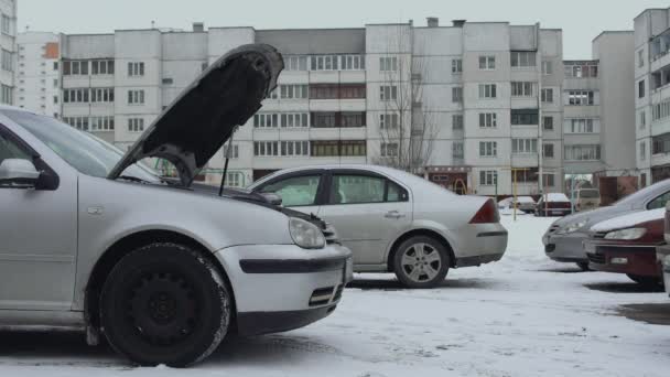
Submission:
[[100,308],[99,308],[99,299],[102,290],[102,286],[107,280],[107,277],[114,269],[114,267],[128,254],[133,250],[147,246],[154,243],[172,243],[179,244],[183,246],[187,246],[198,251],[203,258],[206,258],[210,261],[218,272],[221,274],[224,281],[228,286],[228,290],[231,295],[231,323],[235,323],[235,314],[236,314],[236,304],[235,304],[235,292],[233,291],[233,284],[226,273],[226,269],[219,262],[219,260],[214,256],[213,250],[209,250],[198,240],[181,234],[174,230],[164,230],[164,229],[152,229],[152,230],[141,230],[137,233],[132,233],[130,235],[126,235],[125,237],[118,239],[110,247],[107,248],[96,261],[90,276],[88,277],[88,281],[85,289],[84,295],[84,316],[86,321],[86,325],[89,328],[94,328],[97,331],[100,327]]

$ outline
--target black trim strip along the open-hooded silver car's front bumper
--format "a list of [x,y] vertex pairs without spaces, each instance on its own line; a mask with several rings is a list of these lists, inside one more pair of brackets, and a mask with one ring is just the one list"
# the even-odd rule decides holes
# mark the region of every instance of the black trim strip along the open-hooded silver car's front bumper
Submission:
[[346,258],[323,259],[241,259],[245,273],[311,273],[337,271],[346,266]]

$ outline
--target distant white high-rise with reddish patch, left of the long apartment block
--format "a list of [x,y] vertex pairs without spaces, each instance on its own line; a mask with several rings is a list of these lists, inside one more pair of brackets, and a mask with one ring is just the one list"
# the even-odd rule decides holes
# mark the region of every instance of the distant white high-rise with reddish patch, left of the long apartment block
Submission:
[[14,105],[61,117],[60,39],[47,32],[24,32],[17,36]]

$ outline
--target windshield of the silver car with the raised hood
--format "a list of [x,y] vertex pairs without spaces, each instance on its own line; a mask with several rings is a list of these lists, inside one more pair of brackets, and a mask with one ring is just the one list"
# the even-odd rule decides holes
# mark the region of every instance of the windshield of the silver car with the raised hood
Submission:
[[[4,110],[2,114],[25,128],[83,174],[107,177],[123,157],[116,147],[54,118],[19,110]],[[129,166],[122,175],[152,183],[161,182],[159,174],[141,164]]]

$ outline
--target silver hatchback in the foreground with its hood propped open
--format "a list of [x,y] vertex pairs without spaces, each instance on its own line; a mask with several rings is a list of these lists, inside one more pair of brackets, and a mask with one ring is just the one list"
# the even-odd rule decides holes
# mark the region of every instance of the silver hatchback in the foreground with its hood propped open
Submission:
[[[287,331],[335,310],[350,251],[316,217],[192,185],[277,85],[267,45],[212,64],[126,154],[0,107],[0,327],[85,331],[142,365],[187,366],[234,328]],[[163,180],[141,160],[163,158]]]

